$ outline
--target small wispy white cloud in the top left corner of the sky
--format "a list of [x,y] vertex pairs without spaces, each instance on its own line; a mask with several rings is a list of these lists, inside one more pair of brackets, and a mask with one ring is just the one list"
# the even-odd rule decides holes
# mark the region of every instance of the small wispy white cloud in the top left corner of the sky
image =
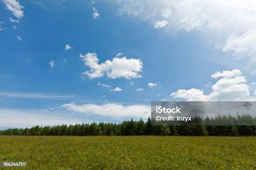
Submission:
[[20,5],[20,2],[16,0],[2,0],[2,2],[6,5],[6,8],[13,13],[15,17],[20,19],[24,16],[22,10],[24,7]]

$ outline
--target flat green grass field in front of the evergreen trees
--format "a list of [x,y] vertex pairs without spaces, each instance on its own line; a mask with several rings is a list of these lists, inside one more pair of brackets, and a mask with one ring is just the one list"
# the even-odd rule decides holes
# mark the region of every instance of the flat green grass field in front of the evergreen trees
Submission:
[[256,137],[0,136],[3,161],[45,170],[249,170],[256,169]]

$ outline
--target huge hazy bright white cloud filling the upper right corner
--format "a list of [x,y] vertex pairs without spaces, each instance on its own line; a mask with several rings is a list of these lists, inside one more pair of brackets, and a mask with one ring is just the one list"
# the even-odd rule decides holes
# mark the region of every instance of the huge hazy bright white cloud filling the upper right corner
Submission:
[[[255,0],[116,0],[120,15],[152,23],[171,35],[197,31],[217,49],[256,63]],[[168,23],[168,24],[167,24]]]

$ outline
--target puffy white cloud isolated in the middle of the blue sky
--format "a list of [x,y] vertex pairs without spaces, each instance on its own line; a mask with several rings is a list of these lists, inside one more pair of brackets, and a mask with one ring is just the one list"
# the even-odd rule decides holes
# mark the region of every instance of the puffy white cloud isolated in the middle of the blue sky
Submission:
[[90,67],[91,70],[83,72],[90,78],[98,78],[107,75],[110,78],[126,79],[138,78],[141,75],[138,72],[142,71],[142,62],[140,59],[127,59],[126,57],[114,57],[112,61],[107,60],[104,63],[99,64],[99,59],[95,52],[88,52],[86,55],[80,54],[80,57],[84,61],[84,65]]

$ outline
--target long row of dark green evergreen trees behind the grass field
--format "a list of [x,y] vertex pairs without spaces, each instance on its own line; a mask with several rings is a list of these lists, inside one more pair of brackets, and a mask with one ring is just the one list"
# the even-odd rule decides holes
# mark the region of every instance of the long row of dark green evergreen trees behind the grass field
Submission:
[[122,123],[82,123],[76,125],[33,126],[32,128],[9,128],[0,130],[0,135],[256,135],[256,126],[204,126],[204,125],[176,125],[154,126],[151,119],[125,120]]

